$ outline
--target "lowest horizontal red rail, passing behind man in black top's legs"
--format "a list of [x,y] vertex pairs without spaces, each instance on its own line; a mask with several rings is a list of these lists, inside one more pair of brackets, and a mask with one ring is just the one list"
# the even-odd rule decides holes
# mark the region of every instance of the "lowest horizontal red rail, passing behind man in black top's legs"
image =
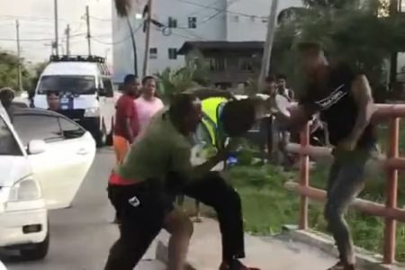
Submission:
[[[314,188],[311,186],[301,186],[300,184],[289,181],[284,184],[287,190],[293,191],[295,193],[303,194],[310,198],[313,201],[325,202],[326,201],[326,192],[324,190]],[[377,202],[370,202],[362,199],[356,199],[355,202],[351,205],[358,211],[363,211],[372,216],[390,218],[392,220],[399,220],[405,222],[405,210],[403,209],[387,209],[384,204]]]

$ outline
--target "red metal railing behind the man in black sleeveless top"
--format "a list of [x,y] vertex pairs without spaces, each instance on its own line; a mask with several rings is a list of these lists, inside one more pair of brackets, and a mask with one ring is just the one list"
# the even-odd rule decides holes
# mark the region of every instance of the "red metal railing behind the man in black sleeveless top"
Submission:
[[[400,117],[405,117],[405,104],[377,104],[373,121],[390,120],[390,136],[387,157],[380,160],[387,172],[386,176],[386,202],[385,205],[356,199],[353,207],[374,216],[385,219],[383,263],[392,264],[395,261],[396,247],[396,220],[405,222],[405,209],[397,206],[398,170],[405,170],[405,158],[399,157]],[[312,147],[310,145],[310,127],[307,124],[301,132],[301,145],[290,144],[290,152],[301,156],[300,181],[288,182],[286,188],[301,194],[299,228],[308,229],[308,200],[324,202],[326,192],[310,186],[310,156],[326,157],[331,155],[331,148]]]

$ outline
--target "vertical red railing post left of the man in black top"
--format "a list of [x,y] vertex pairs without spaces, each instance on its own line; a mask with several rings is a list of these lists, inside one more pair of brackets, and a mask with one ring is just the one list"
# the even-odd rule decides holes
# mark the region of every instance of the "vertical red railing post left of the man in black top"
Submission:
[[[307,148],[310,145],[309,123],[307,123],[302,129],[300,139],[302,148]],[[310,185],[310,157],[308,155],[301,154],[300,162],[300,184],[307,187]],[[299,229],[308,229],[308,197],[303,194],[300,201]]]

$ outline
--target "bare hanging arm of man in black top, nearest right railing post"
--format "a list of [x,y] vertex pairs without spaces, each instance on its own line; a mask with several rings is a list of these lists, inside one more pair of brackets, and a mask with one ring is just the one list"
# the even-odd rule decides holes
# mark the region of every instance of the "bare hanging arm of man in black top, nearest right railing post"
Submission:
[[370,123],[373,113],[375,112],[375,106],[371,87],[366,76],[357,76],[352,84],[351,91],[358,106],[358,114],[355,127],[349,138],[357,142]]

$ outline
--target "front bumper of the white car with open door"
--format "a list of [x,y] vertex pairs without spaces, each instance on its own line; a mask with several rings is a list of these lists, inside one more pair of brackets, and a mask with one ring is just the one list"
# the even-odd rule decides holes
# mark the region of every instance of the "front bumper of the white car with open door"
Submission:
[[[22,208],[9,205],[7,209]],[[9,203],[10,204],[10,203]],[[48,211],[45,208],[0,212],[0,247],[24,246],[43,242],[48,233]]]

